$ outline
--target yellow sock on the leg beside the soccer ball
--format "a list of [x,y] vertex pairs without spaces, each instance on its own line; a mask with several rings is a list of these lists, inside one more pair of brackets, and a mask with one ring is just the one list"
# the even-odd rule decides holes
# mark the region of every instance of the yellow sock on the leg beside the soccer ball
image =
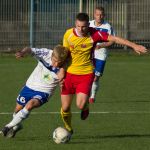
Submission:
[[64,112],[61,108],[61,117],[62,117],[62,120],[64,122],[64,125],[65,125],[65,128],[68,130],[68,131],[72,131],[72,127],[71,127],[71,111],[69,110],[68,112]]

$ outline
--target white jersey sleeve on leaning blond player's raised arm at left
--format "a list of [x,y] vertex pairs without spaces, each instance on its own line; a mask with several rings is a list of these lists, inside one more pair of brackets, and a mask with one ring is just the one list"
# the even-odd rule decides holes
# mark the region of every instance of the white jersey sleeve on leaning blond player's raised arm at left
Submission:
[[38,60],[44,59],[50,52],[50,50],[47,48],[31,48],[31,51],[32,55]]

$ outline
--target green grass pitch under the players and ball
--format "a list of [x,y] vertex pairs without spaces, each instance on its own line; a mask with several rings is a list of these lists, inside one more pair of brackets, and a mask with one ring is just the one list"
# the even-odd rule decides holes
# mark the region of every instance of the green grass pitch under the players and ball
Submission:
[[[21,87],[36,66],[30,57],[16,60],[0,56],[0,128],[11,118]],[[73,112],[79,112],[72,105]],[[150,149],[150,56],[110,54],[101,90],[85,121],[73,113],[74,134],[68,144],[57,145],[52,132],[63,126],[59,89],[47,104],[35,109],[15,138],[0,137],[0,150],[149,150]],[[4,112],[4,114],[3,114]],[[46,112],[46,113],[42,113]]]

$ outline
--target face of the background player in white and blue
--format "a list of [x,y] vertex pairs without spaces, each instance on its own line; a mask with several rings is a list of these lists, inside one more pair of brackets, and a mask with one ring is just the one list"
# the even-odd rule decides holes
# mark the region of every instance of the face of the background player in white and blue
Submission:
[[104,20],[104,12],[96,9],[94,12],[94,19],[97,23],[102,23]]

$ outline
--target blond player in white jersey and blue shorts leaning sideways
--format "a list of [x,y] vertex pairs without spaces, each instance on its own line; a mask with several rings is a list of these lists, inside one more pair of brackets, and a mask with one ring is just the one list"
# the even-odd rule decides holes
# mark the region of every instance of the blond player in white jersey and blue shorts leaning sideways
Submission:
[[68,49],[58,45],[54,50],[46,48],[24,48],[16,53],[16,58],[32,54],[38,64],[26,81],[17,97],[13,119],[0,131],[1,135],[14,137],[21,129],[22,120],[26,119],[31,110],[42,106],[52,96],[53,91],[65,75],[64,64],[68,58]]

